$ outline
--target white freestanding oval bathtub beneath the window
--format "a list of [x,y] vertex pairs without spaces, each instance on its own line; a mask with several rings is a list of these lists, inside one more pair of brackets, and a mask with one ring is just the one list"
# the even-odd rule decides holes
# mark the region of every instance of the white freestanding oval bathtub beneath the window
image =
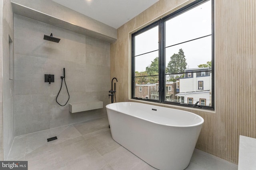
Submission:
[[159,170],[184,170],[204,119],[166,107],[120,102],[106,106],[112,138]]

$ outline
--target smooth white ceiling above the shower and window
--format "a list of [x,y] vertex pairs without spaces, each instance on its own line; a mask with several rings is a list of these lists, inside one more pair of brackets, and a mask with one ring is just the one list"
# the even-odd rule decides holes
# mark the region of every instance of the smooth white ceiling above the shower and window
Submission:
[[114,28],[122,26],[158,0],[52,0]]

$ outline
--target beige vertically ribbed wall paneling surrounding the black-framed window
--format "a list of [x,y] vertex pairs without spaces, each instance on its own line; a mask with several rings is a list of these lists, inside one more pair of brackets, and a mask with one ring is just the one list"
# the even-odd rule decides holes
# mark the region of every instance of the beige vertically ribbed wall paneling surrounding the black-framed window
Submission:
[[[118,29],[110,47],[118,102],[130,94],[129,33],[192,1],[160,0]],[[183,109],[204,118],[196,148],[236,164],[239,135],[256,138],[255,22],[255,0],[215,0],[215,113]]]

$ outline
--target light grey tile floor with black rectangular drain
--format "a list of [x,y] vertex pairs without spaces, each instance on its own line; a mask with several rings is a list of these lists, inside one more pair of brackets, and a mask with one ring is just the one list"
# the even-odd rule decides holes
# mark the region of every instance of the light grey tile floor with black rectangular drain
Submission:
[[[107,117],[15,137],[8,160],[28,160],[29,170],[156,170],[112,139]],[[186,168],[237,169],[197,149]]]

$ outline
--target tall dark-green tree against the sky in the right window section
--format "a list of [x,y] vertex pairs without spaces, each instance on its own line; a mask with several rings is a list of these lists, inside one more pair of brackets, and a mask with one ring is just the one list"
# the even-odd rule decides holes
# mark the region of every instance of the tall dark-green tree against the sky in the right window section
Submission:
[[174,53],[170,57],[170,59],[171,60],[167,65],[166,72],[169,72],[169,73],[185,72],[187,63],[186,63],[184,51],[182,49],[179,49],[178,54]]

